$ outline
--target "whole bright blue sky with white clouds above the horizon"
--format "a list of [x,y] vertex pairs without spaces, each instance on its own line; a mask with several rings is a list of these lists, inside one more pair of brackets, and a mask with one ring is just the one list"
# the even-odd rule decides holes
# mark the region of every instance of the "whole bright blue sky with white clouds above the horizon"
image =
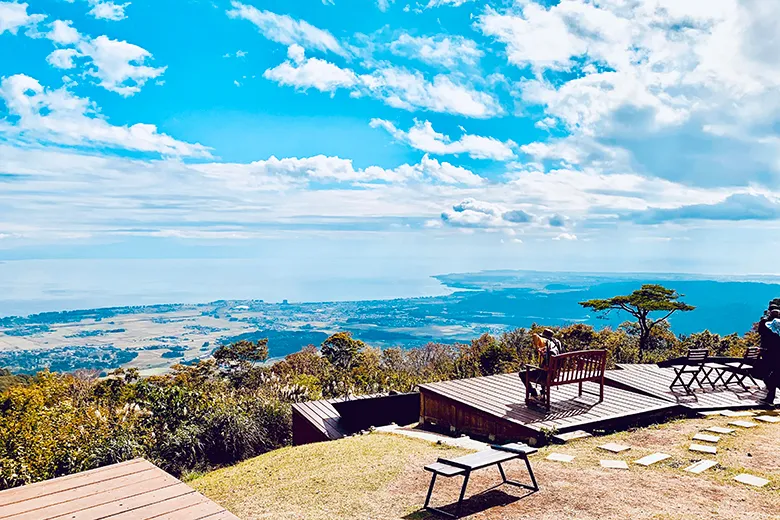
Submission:
[[774,274],[778,24],[775,0],[0,1],[0,261]]

